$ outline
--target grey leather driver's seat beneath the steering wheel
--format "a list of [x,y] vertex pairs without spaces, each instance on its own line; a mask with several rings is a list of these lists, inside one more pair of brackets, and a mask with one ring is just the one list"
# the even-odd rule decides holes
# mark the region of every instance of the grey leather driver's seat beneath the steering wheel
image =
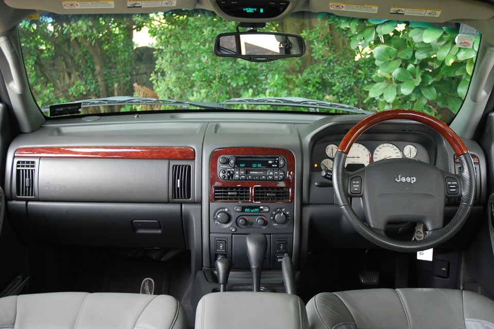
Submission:
[[311,329],[494,329],[494,302],[453,289],[322,293],[307,304]]

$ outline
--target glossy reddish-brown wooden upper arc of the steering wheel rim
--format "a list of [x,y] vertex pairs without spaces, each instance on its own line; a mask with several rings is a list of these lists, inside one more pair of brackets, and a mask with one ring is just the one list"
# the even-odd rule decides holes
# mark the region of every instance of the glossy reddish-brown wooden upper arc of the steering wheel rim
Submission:
[[424,123],[430,126],[432,129],[436,130],[449,142],[451,147],[457,156],[468,153],[468,149],[463,143],[462,139],[456,135],[456,133],[444,122],[422,112],[412,111],[410,109],[390,109],[387,111],[377,112],[370,115],[358,122],[352,129],[348,131],[343,140],[338,147],[339,151],[345,154],[350,152],[351,145],[365,132],[367,129],[373,125],[378,124],[382,121],[392,120],[392,119],[408,119]]

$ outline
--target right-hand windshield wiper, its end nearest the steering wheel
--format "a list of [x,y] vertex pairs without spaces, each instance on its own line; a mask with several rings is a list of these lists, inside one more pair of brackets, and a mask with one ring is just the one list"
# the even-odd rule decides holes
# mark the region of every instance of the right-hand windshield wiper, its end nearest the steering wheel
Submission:
[[313,107],[313,108],[326,108],[326,109],[338,109],[340,111],[360,113],[360,114],[372,114],[371,111],[365,111],[364,109],[326,101],[318,101],[315,99],[308,99],[303,97],[266,97],[266,98],[232,98],[221,102],[220,104],[257,104],[257,105],[278,105],[278,106],[299,106],[299,107]]

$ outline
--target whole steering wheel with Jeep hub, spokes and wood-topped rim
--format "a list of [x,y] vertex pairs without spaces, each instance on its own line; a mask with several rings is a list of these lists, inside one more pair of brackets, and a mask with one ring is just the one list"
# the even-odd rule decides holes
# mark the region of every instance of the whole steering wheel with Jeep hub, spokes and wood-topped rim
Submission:
[[[386,159],[354,172],[345,170],[351,145],[370,127],[391,119],[424,123],[441,134],[460,159],[462,171],[454,175],[413,159]],[[377,246],[394,251],[420,251],[452,237],[466,222],[475,196],[475,172],[463,141],[445,123],[408,109],[392,109],[366,117],[348,131],[333,163],[333,187],[341,212],[351,226]],[[366,223],[351,208],[348,197],[362,197]],[[460,207],[444,226],[447,197],[461,197]],[[387,236],[386,224],[417,223],[414,239],[401,241]]]

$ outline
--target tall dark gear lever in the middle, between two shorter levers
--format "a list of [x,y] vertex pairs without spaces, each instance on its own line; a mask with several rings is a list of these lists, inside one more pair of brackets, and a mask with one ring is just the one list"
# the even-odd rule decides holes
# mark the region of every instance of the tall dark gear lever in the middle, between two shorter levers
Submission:
[[261,286],[261,270],[266,250],[268,249],[268,240],[266,235],[260,233],[251,233],[247,235],[247,256],[251,265],[253,291],[259,291]]

